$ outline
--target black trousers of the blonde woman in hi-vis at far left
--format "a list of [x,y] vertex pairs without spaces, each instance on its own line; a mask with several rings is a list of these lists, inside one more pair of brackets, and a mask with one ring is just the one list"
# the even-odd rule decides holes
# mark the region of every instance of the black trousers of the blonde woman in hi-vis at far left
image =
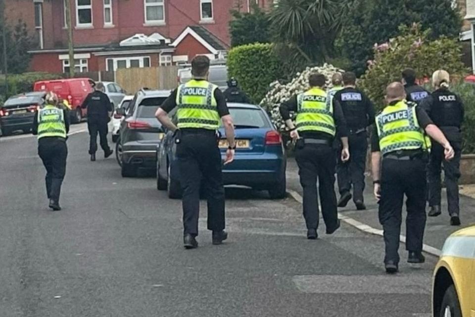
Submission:
[[61,184],[66,174],[68,148],[61,138],[41,138],[38,141],[38,155],[46,168],[46,192],[48,199],[59,202]]

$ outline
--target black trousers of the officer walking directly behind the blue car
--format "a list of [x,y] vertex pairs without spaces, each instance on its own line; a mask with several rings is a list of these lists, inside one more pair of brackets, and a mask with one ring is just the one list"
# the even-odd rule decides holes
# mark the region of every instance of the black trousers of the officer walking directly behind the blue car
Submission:
[[213,131],[183,131],[177,145],[180,183],[183,189],[184,233],[198,235],[199,195],[203,185],[208,201],[208,229],[225,228],[225,192],[221,152]]

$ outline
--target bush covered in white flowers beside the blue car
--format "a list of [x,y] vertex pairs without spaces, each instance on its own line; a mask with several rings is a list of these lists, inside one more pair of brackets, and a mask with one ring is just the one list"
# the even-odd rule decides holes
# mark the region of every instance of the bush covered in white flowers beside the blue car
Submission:
[[293,95],[303,93],[309,89],[308,77],[312,73],[321,73],[327,77],[327,89],[332,88],[332,76],[334,73],[343,73],[344,70],[338,69],[330,64],[323,66],[307,67],[302,72],[296,74],[295,78],[286,85],[279,83],[279,81],[272,82],[269,85],[269,90],[266,97],[259,104],[271,114],[272,122],[280,131],[285,131],[285,122],[282,120],[279,112],[279,106]]

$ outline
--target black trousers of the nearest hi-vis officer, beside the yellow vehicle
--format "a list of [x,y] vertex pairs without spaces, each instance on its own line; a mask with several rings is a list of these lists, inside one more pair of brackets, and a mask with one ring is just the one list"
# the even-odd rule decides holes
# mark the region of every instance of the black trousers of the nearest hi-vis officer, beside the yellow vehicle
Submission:
[[406,249],[422,251],[426,226],[426,160],[383,159],[379,218],[384,230],[384,262],[399,262],[402,205],[407,196]]

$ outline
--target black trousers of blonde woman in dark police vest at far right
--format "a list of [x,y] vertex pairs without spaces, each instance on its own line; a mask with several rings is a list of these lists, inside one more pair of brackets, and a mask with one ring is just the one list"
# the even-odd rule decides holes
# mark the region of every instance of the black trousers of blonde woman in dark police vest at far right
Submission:
[[429,182],[429,206],[440,206],[441,164],[444,165],[445,185],[447,186],[447,203],[449,214],[459,214],[459,178],[460,178],[460,157],[462,156],[462,147],[460,142],[450,142],[455,151],[455,157],[446,161],[444,158],[444,148],[432,142],[430,151],[430,161],[428,164],[428,182]]

